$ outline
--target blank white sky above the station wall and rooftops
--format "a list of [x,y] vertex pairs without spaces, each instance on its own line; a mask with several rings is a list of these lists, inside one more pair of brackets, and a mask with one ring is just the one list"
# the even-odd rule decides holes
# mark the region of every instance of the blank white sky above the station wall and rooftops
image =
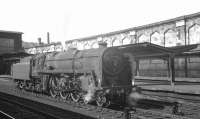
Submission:
[[0,0],[0,30],[71,40],[200,12],[199,0]]

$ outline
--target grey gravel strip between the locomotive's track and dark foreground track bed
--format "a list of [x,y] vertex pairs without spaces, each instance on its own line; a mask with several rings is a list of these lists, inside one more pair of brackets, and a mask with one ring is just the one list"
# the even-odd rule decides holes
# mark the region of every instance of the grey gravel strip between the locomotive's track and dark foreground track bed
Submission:
[[[90,115],[91,117],[98,119],[123,119],[125,117],[122,110],[117,111],[113,109],[97,107],[94,105],[74,103],[72,101],[62,100],[60,98],[54,99],[47,95],[19,90],[11,80],[0,80],[0,91],[38,101],[44,104],[49,104],[61,109],[78,112],[84,115]],[[196,113],[190,113],[191,116],[183,117],[168,114],[165,111],[145,110],[140,108],[136,109],[136,112],[130,111],[129,113],[131,115],[131,119],[190,119],[197,116],[195,115]]]

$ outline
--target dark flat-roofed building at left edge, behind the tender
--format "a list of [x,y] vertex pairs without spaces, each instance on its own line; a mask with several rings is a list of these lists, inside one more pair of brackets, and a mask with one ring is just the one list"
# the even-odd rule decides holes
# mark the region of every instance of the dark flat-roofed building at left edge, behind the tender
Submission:
[[0,30],[0,74],[10,74],[12,63],[26,54],[22,48],[22,34]]

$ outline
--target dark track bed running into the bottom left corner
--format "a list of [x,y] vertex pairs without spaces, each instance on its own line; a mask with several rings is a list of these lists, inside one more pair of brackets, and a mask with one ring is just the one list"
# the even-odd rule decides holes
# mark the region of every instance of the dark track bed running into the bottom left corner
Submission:
[[[79,113],[62,110],[50,105],[0,93],[1,105],[16,119],[94,119]],[[9,105],[9,106],[8,106]],[[3,108],[3,106],[1,106]]]

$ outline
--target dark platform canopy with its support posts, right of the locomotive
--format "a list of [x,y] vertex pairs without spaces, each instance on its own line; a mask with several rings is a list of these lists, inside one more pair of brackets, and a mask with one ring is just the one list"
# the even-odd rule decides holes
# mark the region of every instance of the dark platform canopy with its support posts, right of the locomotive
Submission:
[[[175,58],[177,57],[187,57],[187,56],[198,56],[199,48],[198,45],[187,45],[187,46],[177,46],[166,48],[152,43],[138,43],[129,44],[124,46],[118,46],[124,53],[130,53],[134,56],[136,62],[136,76],[139,76],[139,61],[142,59],[162,59],[167,62],[168,68],[168,79],[170,79],[170,84],[173,86],[175,83]],[[187,67],[185,67],[187,73]],[[187,75],[187,74],[186,74]],[[137,77],[139,80],[139,77]],[[146,78],[147,79],[147,78]],[[148,80],[148,79],[147,79]]]

